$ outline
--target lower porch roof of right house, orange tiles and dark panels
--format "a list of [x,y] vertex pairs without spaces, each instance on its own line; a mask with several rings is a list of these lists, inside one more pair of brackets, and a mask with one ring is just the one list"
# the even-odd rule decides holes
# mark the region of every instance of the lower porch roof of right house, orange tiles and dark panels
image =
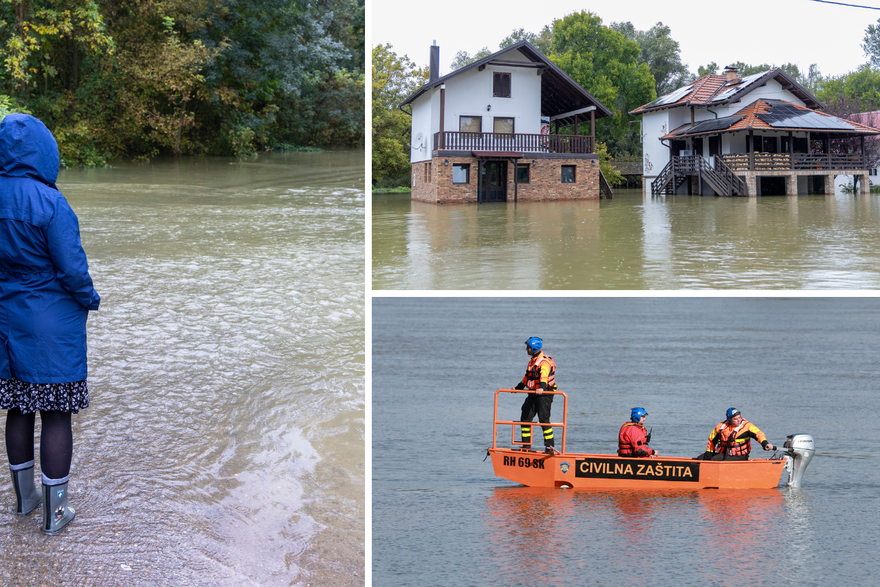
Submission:
[[759,99],[732,116],[702,120],[691,126],[682,125],[660,137],[660,140],[736,132],[740,130],[819,131],[831,134],[866,136],[878,135],[880,130],[843,120],[824,112],[798,106],[785,100]]

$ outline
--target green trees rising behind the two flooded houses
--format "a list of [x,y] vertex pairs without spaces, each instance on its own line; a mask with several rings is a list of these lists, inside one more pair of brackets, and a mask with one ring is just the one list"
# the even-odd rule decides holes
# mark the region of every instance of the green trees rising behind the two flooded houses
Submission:
[[[608,158],[641,157],[639,117],[630,116],[630,110],[699,77],[718,74],[721,69],[718,64],[709,63],[698,66],[696,73],[690,73],[687,65],[681,61],[679,45],[672,38],[672,31],[662,22],[647,31],[639,31],[630,22],[605,26],[597,15],[577,12],[555,19],[538,34],[516,29],[501,42],[499,48],[522,40],[538,48],[614,113],[614,116],[601,119],[596,125],[597,138],[604,141],[607,148],[603,154],[603,172],[608,167]],[[379,47],[382,48],[382,55],[394,55],[390,44]],[[736,67],[741,76],[779,67],[823,102],[827,112],[846,118],[856,112],[880,110],[880,20],[876,25],[868,26],[862,48],[868,62],[846,75],[836,77],[823,77],[815,63],[806,71],[801,71],[793,63],[776,66],[737,62],[725,65]],[[452,69],[489,54],[491,51],[487,47],[475,55],[459,51]],[[409,91],[391,104],[387,101],[389,93],[383,91],[384,82],[382,79],[377,82],[376,79],[376,50],[373,57],[373,178],[382,182],[394,175],[399,183],[405,181],[409,166],[409,147],[406,144],[409,118],[400,113],[403,117],[396,118],[399,126],[394,126],[389,124],[391,116],[383,115],[379,117],[377,125],[376,113],[395,110],[409,91],[424,83],[425,71],[404,57],[401,62],[404,66],[396,69],[402,77],[395,84],[398,88],[405,86]],[[379,67],[387,67],[387,64]],[[379,104],[378,109],[377,92],[382,92],[382,99],[386,100]],[[398,138],[391,140],[392,137]]]

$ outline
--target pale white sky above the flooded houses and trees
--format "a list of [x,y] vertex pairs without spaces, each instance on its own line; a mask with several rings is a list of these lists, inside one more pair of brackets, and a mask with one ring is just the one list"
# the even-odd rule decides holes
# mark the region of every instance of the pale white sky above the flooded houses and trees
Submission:
[[823,76],[837,76],[867,62],[861,48],[865,30],[880,19],[880,0],[841,1],[876,10],[813,0],[373,0],[368,43],[371,47],[391,43],[398,55],[427,66],[429,47],[436,40],[442,75],[450,71],[458,51],[473,55],[488,47],[494,52],[516,29],[538,33],[554,19],[586,10],[597,14],[604,25],[629,21],[644,31],[662,22],[671,29],[681,59],[693,73],[713,61],[719,68],[742,61],[794,63],[802,72],[815,63]]

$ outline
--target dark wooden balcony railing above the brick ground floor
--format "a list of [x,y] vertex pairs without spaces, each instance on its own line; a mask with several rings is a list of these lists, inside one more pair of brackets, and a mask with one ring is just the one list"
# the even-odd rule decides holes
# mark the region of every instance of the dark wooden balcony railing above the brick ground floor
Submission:
[[495,132],[434,133],[434,150],[448,151],[517,151],[524,153],[575,153],[593,152],[593,137],[580,135],[526,135]]

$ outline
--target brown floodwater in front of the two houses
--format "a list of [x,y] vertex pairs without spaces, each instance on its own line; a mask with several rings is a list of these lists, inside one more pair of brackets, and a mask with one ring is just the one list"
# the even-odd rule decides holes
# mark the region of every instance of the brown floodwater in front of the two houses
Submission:
[[372,198],[373,289],[880,288],[880,196]]

